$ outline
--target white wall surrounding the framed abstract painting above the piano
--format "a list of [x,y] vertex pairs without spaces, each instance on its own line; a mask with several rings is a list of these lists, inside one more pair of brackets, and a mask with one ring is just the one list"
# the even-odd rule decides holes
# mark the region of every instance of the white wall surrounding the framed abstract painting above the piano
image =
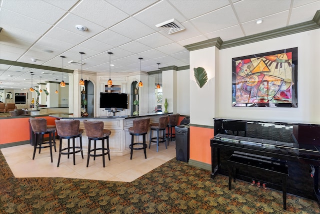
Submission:
[[[216,81],[218,90],[215,99],[215,117],[264,120],[280,122],[320,123],[320,29],[265,40],[248,45],[219,51],[219,75]],[[298,107],[232,107],[231,106],[231,59],[234,57],[298,48]],[[211,48],[212,49],[212,48]],[[205,53],[200,53],[205,56]],[[191,65],[190,65],[191,69]],[[209,115],[210,116],[210,115]]]

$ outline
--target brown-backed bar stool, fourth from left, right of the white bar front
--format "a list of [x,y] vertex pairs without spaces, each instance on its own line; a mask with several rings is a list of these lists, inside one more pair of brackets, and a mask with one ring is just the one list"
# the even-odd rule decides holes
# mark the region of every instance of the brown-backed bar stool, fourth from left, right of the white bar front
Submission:
[[[147,134],[149,130],[149,124],[150,124],[150,118],[145,119],[137,119],[133,120],[133,126],[128,129],[129,134],[131,135],[131,144],[129,145],[130,148],[130,160],[132,159],[132,153],[133,150],[140,150],[143,149],[144,152],[144,158],[146,159],[146,150],[147,147],[145,143],[145,135]],[[142,143],[137,142],[133,143],[134,136],[140,136],[142,135]],[[138,146],[142,145],[142,146]]]

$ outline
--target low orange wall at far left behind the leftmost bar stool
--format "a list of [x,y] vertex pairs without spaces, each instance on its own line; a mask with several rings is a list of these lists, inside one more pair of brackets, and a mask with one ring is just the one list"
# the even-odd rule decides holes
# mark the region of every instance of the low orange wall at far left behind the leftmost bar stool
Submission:
[[[54,117],[44,116],[48,125],[55,125]],[[0,119],[0,144],[26,141],[30,139],[29,117]]]

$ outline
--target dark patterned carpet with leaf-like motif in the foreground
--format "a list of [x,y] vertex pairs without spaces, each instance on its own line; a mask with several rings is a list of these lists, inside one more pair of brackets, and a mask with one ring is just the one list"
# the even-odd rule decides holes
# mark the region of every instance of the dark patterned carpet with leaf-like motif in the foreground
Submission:
[[[0,213],[320,213],[316,201],[232,183],[174,159],[133,182],[15,178],[0,152]],[[30,169],[32,170],[32,169]]]

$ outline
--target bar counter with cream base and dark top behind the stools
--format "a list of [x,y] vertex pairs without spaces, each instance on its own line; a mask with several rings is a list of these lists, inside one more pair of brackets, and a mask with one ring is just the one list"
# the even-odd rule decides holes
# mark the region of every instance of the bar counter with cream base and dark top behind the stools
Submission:
[[[54,117],[59,120],[79,120],[80,128],[83,129],[82,134],[82,149],[84,152],[87,152],[88,139],[86,137],[86,132],[83,125],[83,120],[88,121],[103,121],[104,129],[109,129],[111,135],[109,136],[109,148],[111,156],[123,156],[130,152],[129,145],[131,144],[131,135],[128,132],[128,128],[133,126],[133,120],[143,119],[145,117],[150,118],[150,123],[157,122],[159,117],[171,113],[151,113],[146,115],[120,115],[120,116],[101,116],[101,117],[74,117],[73,115],[68,114],[52,114],[50,117]],[[142,141],[141,136],[139,141]],[[141,139],[140,139],[141,138]],[[148,137],[147,137],[148,140]],[[79,143],[79,142],[76,142]]]

